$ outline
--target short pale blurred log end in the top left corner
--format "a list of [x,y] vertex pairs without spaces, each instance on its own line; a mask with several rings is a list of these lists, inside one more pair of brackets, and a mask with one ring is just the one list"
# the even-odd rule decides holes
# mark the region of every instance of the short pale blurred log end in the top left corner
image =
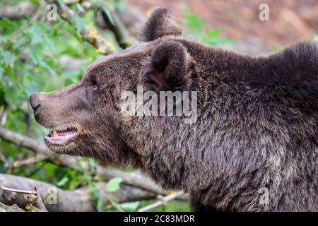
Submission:
[[20,2],[14,6],[1,6],[0,19],[8,18],[18,20],[28,16],[32,16],[37,10],[37,7],[30,2]]

